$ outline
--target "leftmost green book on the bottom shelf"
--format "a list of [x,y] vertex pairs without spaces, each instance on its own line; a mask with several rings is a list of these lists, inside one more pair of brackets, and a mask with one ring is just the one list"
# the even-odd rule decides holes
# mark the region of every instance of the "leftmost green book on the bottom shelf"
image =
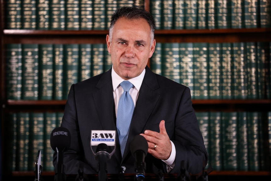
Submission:
[[[16,150],[17,150],[17,114],[8,113],[7,114],[7,132],[5,135],[8,154],[7,156],[7,170],[12,172],[16,170]],[[4,142],[5,143],[5,142]]]

